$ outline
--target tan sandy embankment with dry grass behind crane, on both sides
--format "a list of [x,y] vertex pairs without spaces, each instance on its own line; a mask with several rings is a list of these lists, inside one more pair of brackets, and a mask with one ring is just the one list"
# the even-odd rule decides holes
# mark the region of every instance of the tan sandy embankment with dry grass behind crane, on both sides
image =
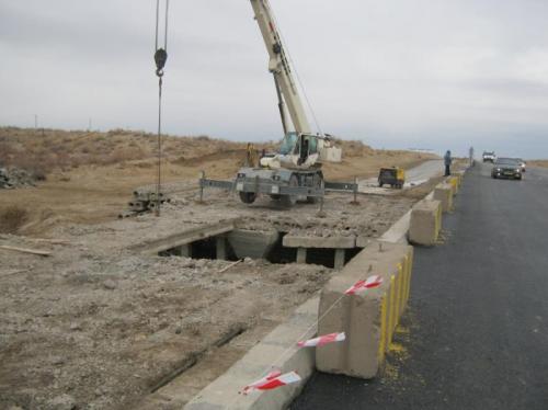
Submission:
[[[126,208],[136,186],[156,182],[156,136],[140,132],[109,133],[0,128],[0,162],[36,173],[36,187],[0,190],[0,219],[5,208],[26,215],[1,231],[47,235],[59,225],[98,224]],[[380,167],[412,168],[431,155],[375,150],[361,141],[341,141],[344,160],[324,167],[330,180],[369,178]],[[163,182],[231,179],[246,158],[244,143],[199,137],[165,137]],[[273,143],[255,145],[272,149]],[[11,210],[12,212],[12,210]]]

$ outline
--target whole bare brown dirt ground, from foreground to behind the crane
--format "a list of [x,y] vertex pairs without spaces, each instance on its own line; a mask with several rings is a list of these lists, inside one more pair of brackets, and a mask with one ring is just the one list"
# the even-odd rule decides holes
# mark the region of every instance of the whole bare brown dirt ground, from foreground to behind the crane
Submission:
[[[362,149],[328,167],[327,178],[370,176],[381,164],[410,167],[427,158]],[[180,409],[333,273],[265,260],[219,273],[231,262],[148,257],[132,250],[136,244],[232,218],[251,230],[375,238],[422,194],[361,195],[358,205],[330,194],[323,217],[318,205],[288,210],[260,198],[247,206],[221,191],[207,191],[197,204],[198,171],[230,178],[240,153],[167,161],[165,181],[184,189],[161,218],[115,218],[133,189],[153,182],[150,158],[54,170],[36,189],[0,192],[0,210],[28,213],[15,235],[0,232],[0,246],[52,253],[0,249],[0,408],[135,409],[180,376],[184,392],[164,407]]]

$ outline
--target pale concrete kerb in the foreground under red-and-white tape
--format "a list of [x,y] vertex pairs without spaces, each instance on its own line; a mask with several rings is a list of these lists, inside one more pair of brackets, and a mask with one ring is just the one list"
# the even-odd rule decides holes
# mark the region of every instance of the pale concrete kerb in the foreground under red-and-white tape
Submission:
[[[302,304],[288,321],[269,333],[224,375],[195,396],[184,409],[277,410],[289,406],[313,372],[313,350],[299,349],[296,341],[302,334],[316,334],[318,305],[318,297]],[[276,360],[279,363],[274,363]],[[271,391],[254,391],[248,396],[239,394],[244,386],[263,377],[273,365],[282,372],[296,371],[302,377],[302,383]]]

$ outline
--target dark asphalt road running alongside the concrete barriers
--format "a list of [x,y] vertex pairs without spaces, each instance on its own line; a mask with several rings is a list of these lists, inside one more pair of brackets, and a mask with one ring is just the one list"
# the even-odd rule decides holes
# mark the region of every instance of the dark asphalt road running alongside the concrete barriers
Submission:
[[444,230],[415,249],[385,377],[317,373],[292,409],[548,409],[548,170],[520,182],[478,164]]

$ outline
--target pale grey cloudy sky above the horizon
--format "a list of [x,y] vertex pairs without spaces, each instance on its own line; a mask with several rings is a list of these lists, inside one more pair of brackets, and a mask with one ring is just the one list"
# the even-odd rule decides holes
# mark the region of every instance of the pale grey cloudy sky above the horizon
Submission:
[[[321,129],[548,158],[548,1],[271,0]],[[0,0],[0,124],[156,128],[153,0]],[[171,0],[164,128],[281,136],[247,0]]]

